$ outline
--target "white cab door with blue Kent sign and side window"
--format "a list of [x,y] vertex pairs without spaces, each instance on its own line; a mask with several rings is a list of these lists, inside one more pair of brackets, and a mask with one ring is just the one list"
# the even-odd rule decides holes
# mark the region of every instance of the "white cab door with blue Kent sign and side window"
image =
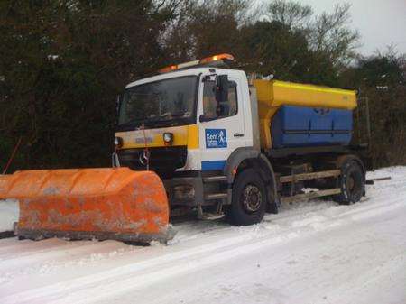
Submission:
[[239,147],[245,147],[245,127],[241,81],[228,75],[228,101],[216,100],[215,79],[203,81],[201,106],[198,117],[204,115],[209,121],[199,121],[199,142],[202,170],[223,170],[228,156]]

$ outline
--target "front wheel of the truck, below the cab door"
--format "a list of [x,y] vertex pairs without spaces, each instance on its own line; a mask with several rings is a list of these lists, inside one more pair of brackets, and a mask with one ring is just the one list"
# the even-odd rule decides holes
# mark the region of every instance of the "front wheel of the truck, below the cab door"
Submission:
[[246,169],[237,175],[232,204],[226,212],[235,226],[248,226],[263,220],[267,206],[266,188],[258,172]]

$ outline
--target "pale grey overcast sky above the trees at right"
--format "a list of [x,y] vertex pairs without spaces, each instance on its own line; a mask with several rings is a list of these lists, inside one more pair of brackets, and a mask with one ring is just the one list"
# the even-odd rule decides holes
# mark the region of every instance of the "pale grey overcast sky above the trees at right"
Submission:
[[[266,1],[266,0],[265,0]],[[384,51],[394,44],[397,51],[406,53],[406,0],[297,0],[313,7],[315,14],[332,12],[336,4],[352,5],[352,27],[361,33],[359,51],[370,55]]]

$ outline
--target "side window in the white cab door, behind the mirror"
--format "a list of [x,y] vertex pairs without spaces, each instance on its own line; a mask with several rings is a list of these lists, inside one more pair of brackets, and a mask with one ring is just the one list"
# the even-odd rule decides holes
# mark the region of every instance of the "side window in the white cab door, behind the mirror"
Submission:
[[237,93],[235,81],[229,82],[228,102],[217,103],[215,81],[205,82],[203,89],[203,114],[208,118],[224,118],[237,114]]

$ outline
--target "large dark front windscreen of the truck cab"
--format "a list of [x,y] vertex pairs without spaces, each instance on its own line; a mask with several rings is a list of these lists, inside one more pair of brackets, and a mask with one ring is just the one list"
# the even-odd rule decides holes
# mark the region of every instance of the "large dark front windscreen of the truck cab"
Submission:
[[171,78],[125,90],[119,125],[180,122],[193,119],[198,77]]

